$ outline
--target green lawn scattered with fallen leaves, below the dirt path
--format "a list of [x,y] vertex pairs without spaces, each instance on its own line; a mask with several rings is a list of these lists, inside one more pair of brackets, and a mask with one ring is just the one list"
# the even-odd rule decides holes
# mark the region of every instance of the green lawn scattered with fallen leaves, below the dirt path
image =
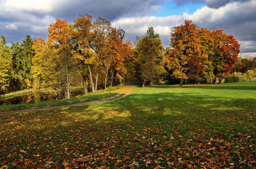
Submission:
[[0,117],[8,168],[255,168],[256,82],[134,87],[107,103]]

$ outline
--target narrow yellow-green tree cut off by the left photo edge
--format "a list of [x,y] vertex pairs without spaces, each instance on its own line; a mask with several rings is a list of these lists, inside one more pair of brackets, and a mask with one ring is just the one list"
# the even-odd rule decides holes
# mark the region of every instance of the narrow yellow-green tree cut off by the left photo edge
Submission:
[[0,36],[0,93],[8,91],[12,68],[12,55],[4,36]]

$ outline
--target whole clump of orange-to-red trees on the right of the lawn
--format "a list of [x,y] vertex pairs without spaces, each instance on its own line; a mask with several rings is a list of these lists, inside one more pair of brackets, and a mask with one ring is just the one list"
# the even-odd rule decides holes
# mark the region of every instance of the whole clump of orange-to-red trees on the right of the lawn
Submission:
[[170,51],[166,54],[166,68],[172,77],[192,82],[219,82],[235,68],[239,43],[223,30],[196,29],[185,20],[185,25],[172,28]]

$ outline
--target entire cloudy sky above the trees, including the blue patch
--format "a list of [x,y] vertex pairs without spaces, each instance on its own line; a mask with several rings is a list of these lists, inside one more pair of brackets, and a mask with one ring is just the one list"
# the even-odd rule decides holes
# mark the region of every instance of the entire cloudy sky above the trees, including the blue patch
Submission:
[[56,18],[72,23],[79,14],[106,18],[122,27],[132,43],[148,27],[159,33],[164,47],[170,28],[192,20],[198,27],[223,29],[241,44],[242,57],[256,57],[256,0],[0,0],[0,35],[11,41],[46,38]]

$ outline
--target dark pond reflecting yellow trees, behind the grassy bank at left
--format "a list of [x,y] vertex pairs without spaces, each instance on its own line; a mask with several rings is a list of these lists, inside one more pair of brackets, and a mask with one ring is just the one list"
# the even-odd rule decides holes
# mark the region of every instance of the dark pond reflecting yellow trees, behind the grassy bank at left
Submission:
[[[83,90],[76,90],[70,93],[70,97],[74,98],[76,96],[84,94]],[[65,94],[61,92],[51,93],[51,92],[32,92],[29,94],[24,94],[22,96],[15,96],[12,98],[0,99],[0,105],[15,105],[20,103],[38,103],[40,101],[51,101],[65,99]]]

